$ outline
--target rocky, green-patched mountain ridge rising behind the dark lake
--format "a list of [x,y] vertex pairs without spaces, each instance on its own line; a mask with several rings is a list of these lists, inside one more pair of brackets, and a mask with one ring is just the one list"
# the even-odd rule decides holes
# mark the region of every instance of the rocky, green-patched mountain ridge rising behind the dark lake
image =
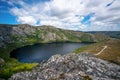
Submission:
[[[103,36],[103,35],[102,35]],[[0,53],[35,43],[49,42],[99,42],[108,36],[96,35],[72,30],[63,30],[53,26],[34,27],[28,24],[0,25]],[[7,52],[8,51],[8,52]],[[3,55],[2,55],[3,56]],[[0,56],[0,57],[2,57]],[[9,57],[9,54],[8,54]]]

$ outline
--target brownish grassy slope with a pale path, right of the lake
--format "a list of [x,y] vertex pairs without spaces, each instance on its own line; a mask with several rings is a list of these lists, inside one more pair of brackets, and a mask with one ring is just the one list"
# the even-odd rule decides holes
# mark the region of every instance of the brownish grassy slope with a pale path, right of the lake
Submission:
[[75,53],[90,52],[93,54],[97,54],[103,49],[104,46],[108,46],[108,47],[97,57],[120,64],[120,40],[119,39],[110,39],[108,41],[91,44],[91,45],[79,48],[74,52]]

